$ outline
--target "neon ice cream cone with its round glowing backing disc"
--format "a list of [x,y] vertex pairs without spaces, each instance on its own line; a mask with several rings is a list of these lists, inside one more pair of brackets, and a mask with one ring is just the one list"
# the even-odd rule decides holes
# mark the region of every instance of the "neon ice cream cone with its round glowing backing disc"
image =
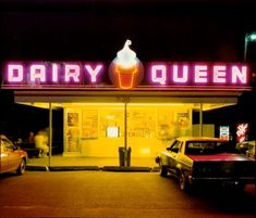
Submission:
[[130,49],[131,40],[126,40],[122,50],[112,61],[109,73],[112,82],[121,89],[132,89],[139,84],[143,77],[143,65],[136,53]]

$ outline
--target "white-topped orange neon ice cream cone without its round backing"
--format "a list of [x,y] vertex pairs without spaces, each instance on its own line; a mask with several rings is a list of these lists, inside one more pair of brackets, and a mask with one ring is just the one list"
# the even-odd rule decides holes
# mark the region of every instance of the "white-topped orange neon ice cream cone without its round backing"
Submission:
[[134,87],[135,75],[138,70],[138,61],[136,53],[132,51],[131,40],[126,40],[124,47],[118,52],[114,60],[114,73],[117,74],[119,86],[122,89],[131,89]]

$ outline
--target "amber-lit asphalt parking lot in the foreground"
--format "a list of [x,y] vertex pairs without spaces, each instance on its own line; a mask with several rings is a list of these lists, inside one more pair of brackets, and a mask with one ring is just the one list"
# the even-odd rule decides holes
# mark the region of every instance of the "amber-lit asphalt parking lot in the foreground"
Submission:
[[26,171],[0,176],[0,217],[253,218],[255,187],[244,193],[179,190],[158,172]]

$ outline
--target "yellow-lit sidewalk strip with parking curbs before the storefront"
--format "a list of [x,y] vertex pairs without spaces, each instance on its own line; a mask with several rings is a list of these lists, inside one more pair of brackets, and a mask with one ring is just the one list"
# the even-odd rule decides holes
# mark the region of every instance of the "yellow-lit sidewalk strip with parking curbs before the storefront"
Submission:
[[120,166],[119,157],[51,156],[28,158],[27,170],[110,170],[110,171],[156,171],[155,158],[131,158],[129,167]]

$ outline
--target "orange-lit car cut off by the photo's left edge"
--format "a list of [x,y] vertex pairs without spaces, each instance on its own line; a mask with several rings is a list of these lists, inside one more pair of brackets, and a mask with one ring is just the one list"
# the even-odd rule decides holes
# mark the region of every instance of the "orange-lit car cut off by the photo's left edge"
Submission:
[[4,134],[0,134],[0,174],[16,172],[23,175],[27,164],[27,153],[9,140]]

